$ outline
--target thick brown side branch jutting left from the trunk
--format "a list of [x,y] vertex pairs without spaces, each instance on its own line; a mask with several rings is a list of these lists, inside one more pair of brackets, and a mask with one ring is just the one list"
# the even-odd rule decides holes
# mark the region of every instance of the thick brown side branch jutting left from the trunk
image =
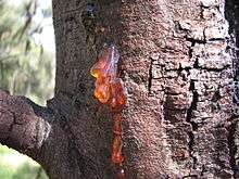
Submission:
[[53,118],[49,108],[0,90],[0,143],[37,158]]

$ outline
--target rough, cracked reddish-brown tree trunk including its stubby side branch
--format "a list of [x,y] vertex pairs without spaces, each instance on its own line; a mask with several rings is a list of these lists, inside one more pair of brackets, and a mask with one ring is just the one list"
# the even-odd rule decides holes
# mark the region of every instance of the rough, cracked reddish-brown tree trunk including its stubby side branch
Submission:
[[[1,92],[1,143],[51,179],[114,178],[112,116],[93,99],[89,75],[104,43],[114,43],[127,89],[126,178],[239,178],[237,3],[53,0],[55,97],[40,108]],[[23,125],[7,120],[17,101],[21,120],[30,119]],[[30,132],[18,136],[23,129]]]

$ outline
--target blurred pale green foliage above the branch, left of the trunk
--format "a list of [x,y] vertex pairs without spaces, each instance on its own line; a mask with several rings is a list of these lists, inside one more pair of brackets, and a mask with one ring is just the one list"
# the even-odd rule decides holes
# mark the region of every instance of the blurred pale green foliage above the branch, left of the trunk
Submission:
[[37,1],[0,1],[0,88],[45,104],[53,91],[53,56],[36,43],[43,28],[34,21],[37,9]]

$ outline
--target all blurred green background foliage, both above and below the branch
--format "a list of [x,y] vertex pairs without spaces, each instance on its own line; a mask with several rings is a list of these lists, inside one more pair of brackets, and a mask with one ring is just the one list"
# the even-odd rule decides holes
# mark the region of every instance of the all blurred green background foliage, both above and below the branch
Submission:
[[[37,0],[0,0],[0,88],[41,105],[54,87],[53,51],[39,40],[51,14],[50,4],[42,9]],[[0,145],[0,179],[47,178],[36,162]]]

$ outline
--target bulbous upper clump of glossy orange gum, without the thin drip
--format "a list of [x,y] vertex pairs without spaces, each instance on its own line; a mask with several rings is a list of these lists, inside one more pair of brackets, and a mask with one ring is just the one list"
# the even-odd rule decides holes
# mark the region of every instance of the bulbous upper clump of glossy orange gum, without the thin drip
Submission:
[[90,74],[97,78],[95,97],[101,103],[109,103],[113,111],[121,111],[126,104],[123,81],[117,77],[120,54],[114,46],[104,50]]

